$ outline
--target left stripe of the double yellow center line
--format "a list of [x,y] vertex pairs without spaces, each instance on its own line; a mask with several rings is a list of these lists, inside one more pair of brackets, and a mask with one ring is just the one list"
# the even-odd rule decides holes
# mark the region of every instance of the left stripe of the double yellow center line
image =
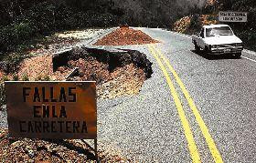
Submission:
[[165,76],[166,81],[167,81],[167,84],[170,88],[171,95],[174,98],[174,101],[175,101],[175,104],[176,104],[176,109],[177,109],[177,112],[178,112],[178,116],[181,120],[183,129],[184,129],[184,133],[185,133],[185,137],[187,138],[188,149],[189,149],[192,161],[193,162],[201,162],[200,157],[199,157],[199,153],[198,153],[198,150],[197,150],[196,142],[194,140],[191,128],[189,127],[189,123],[188,123],[187,117],[185,115],[184,109],[182,107],[181,101],[180,101],[180,99],[177,95],[176,88],[174,87],[174,84],[173,84],[170,76],[168,75],[168,72],[165,69],[165,66],[163,65],[160,58],[155,53],[154,49],[151,46],[148,46],[148,48],[151,51],[151,53],[153,54],[153,56],[155,57],[155,59],[156,59],[158,65],[160,66],[161,70],[163,71],[164,76]]

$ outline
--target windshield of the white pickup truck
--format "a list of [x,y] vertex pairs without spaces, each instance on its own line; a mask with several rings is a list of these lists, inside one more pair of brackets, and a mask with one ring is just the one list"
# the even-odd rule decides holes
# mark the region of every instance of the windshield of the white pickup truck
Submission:
[[229,26],[207,28],[207,36],[232,36],[233,32]]

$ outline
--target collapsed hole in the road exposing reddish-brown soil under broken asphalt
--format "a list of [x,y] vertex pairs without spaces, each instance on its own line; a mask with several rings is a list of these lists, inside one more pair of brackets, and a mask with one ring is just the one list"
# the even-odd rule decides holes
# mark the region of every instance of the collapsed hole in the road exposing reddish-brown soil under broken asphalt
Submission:
[[62,74],[78,67],[69,80],[93,80],[99,97],[133,95],[153,71],[152,63],[138,51],[109,52],[96,48],[75,48],[53,57],[53,70]]

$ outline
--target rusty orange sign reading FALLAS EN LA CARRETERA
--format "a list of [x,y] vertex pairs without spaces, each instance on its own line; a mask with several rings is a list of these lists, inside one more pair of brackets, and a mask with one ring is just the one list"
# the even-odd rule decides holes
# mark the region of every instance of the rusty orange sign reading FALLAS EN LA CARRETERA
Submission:
[[5,82],[11,138],[95,139],[95,82]]

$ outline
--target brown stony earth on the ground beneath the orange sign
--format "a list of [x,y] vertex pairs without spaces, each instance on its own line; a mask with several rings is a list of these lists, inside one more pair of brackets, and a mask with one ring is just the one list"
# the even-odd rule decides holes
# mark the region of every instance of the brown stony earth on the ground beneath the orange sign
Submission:
[[[101,162],[131,162],[119,154],[98,151]],[[94,151],[79,139],[49,140],[18,138],[10,142],[0,128],[0,162],[96,162]]]

